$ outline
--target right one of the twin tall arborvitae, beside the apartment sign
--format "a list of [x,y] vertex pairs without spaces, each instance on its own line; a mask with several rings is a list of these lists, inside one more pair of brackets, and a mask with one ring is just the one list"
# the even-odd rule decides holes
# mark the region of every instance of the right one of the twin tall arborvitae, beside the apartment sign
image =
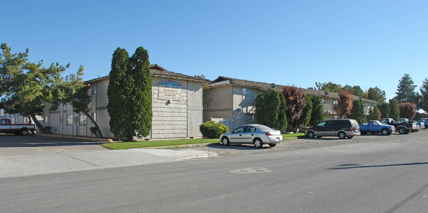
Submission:
[[146,137],[152,128],[152,74],[149,69],[149,53],[143,47],[138,47],[131,57],[132,78],[134,90],[132,92],[131,119],[134,120],[132,137]]

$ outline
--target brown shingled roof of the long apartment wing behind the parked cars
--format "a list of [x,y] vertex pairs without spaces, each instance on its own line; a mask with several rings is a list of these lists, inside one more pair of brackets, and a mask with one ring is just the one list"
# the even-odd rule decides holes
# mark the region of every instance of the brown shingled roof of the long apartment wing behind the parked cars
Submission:
[[[217,87],[217,86],[224,86],[224,85],[238,85],[243,87],[259,88],[261,90],[272,89],[272,87],[270,86],[271,85],[270,83],[253,82],[253,81],[234,79],[234,78],[229,78],[224,76],[219,76],[213,82],[208,84],[208,86],[210,87]],[[284,88],[284,85],[276,85],[275,90],[280,92],[282,91],[283,88]],[[310,90],[310,89],[303,89],[303,88],[302,90],[304,94],[308,94],[312,96],[317,95],[321,97],[339,98],[339,93],[328,92],[328,94],[326,95],[325,92],[321,90]],[[358,96],[354,96],[354,95],[351,95],[351,97],[354,100],[360,99]],[[366,98],[362,98],[361,100],[378,103],[377,101],[366,99]]]

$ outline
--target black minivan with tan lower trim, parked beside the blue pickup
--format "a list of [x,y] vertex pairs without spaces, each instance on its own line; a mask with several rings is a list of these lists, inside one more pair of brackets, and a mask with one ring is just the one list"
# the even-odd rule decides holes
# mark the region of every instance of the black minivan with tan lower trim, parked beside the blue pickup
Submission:
[[306,137],[337,136],[340,139],[361,135],[360,125],[354,119],[324,120],[305,130]]

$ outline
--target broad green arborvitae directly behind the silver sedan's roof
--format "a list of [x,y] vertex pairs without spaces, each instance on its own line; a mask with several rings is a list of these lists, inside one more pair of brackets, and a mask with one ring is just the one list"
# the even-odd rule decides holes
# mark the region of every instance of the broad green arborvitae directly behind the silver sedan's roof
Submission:
[[275,90],[265,90],[256,97],[255,116],[258,124],[274,127],[278,122],[281,100]]

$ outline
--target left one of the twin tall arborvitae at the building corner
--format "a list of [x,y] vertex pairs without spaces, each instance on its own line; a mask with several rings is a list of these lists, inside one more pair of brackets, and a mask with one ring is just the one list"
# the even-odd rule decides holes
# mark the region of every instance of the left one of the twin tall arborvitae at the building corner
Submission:
[[107,87],[107,112],[110,116],[110,131],[117,138],[127,138],[130,125],[128,122],[130,110],[129,97],[134,87],[131,76],[128,75],[129,55],[125,48],[118,47],[111,60],[109,85]]

